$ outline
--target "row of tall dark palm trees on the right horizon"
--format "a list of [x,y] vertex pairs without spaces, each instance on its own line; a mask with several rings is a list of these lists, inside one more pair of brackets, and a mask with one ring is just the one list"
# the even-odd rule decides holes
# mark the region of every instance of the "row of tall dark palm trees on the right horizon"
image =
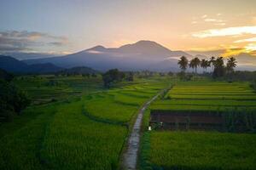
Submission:
[[177,65],[182,72],[185,72],[188,67],[193,69],[193,72],[197,73],[197,68],[201,67],[204,72],[207,72],[207,68],[212,69],[212,77],[223,77],[225,74],[230,74],[234,72],[237,61],[236,58],[230,57],[227,59],[226,65],[224,65],[223,57],[211,57],[210,59],[199,59],[195,57],[194,59],[187,59],[185,56],[182,56],[178,61]]

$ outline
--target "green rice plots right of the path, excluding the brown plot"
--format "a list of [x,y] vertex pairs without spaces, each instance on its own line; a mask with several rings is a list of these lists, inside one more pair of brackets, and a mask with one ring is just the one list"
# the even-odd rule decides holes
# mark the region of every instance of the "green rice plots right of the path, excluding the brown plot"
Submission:
[[[256,94],[248,82],[177,82],[150,109],[256,114]],[[254,133],[145,131],[140,169],[256,169],[255,148]]]

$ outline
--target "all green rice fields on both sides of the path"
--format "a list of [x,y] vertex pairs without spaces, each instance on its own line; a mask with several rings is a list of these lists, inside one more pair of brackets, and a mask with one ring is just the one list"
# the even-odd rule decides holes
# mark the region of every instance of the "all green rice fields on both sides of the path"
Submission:
[[9,83],[25,90],[32,105],[12,122],[1,122],[0,169],[118,169],[138,109],[171,82],[172,89],[145,111],[140,167],[253,169],[253,133],[146,132],[150,110],[225,111],[228,123],[243,115],[254,132],[251,82],[189,79],[128,72],[124,81],[105,88],[101,75],[15,77]]

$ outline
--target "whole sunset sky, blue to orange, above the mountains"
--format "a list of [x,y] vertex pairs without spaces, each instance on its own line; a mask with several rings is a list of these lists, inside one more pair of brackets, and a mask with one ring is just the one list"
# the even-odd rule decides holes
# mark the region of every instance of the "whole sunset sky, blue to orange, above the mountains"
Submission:
[[256,1],[0,0],[0,53],[70,54],[139,40],[256,57]]

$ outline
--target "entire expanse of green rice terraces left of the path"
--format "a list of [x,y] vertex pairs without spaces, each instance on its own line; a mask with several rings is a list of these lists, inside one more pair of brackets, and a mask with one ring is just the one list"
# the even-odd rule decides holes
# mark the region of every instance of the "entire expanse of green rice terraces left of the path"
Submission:
[[[48,86],[51,80],[59,85]],[[170,84],[161,77],[122,82],[111,89],[102,88],[100,78],[15,81],[40,102],[13,122],[0,124],[0,169],[118,169],[138,109]],[[55,101],[41,102],[52,93]]]

